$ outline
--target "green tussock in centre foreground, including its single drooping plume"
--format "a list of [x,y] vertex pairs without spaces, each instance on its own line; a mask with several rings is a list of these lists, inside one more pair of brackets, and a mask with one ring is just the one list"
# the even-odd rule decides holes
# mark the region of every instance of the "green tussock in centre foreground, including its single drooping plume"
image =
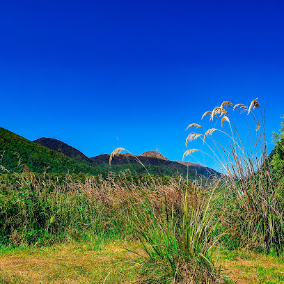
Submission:
[[[114,150],[110,162],[122,150]],[[221,221],[212,207],[214,189],[180,178],[167,186],[151,180],[139,191],[124,196],[147,255],[139,283],[223,283],[211,255]]]

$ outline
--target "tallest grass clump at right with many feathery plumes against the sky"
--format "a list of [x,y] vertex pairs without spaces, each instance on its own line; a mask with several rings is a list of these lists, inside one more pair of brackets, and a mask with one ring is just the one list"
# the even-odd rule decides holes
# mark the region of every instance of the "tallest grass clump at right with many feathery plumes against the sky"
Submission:
[[[234,123],[234,112],[239,113],[243,128],[239,120]],[[212,157],[223,169],[223,198],[230,212],[226,227],[230,234],[250,248],[261,248],[266,253],[272,249],[283,251],[283,189],[274,179],[273,168],[267,160],[265,118],[260,103],[253,100],[246,107],[226,101],[205,112],[202,118],[205,116],[216,121],[214,127],[204,134],[189,134],[186,144],[200,139],[211,152],[203,151],[203,154]],[[202,129],[197,124],[190,127]],[[241,132],[245,129],[243,139]],[[216,133],[223,135],[223,143],[212,139]],[[184,157],[196,151],[196,148],[189,149],[184,152]]]

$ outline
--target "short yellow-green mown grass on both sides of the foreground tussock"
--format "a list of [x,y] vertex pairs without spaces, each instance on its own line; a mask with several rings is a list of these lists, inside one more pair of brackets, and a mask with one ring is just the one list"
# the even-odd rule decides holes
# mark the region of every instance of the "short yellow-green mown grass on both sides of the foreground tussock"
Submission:
[[[0,283],[135,283],[143,255],[136,242],[0,248]],[[220,251],[221,274],[232,283],[284,283],[284,257]]]

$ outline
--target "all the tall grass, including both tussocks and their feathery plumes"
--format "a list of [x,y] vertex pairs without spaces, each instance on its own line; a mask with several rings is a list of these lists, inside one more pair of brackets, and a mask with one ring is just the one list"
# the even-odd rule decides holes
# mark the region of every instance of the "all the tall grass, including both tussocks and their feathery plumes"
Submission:
[[[244,127],[239,131],[239,120],[234,122],[235,112],[245,133]],[[267,160],[259,102],[246,107],[226,101],[206,116],[214,127],[205,130],[191,123],[187,129],[204,133],[190,133],[186,144],[205,145],[209,152],[203,155],[219,163],[221,179],[191,183],[125,171],[104,179],[65,175],[58,180],[25,168],[21,174],[0,176],[1,242],[40,245],[90,235],[138,238],[145,251],[140,283],[226,282],[212,261],[225,232],[242,246],[280,253],[284,192]],[[213,139],[216,133],[222,143]],[[114,150],[110,161],[122,150]],[[196,146],[184,157],[199,151]]]

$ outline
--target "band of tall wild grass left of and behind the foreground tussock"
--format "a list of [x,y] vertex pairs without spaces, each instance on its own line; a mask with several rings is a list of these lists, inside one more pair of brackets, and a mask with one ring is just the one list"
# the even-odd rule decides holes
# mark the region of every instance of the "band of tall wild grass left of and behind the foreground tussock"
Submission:
[[81,180],[36,175],[27,168],[21,174],[0,175],[1,244],[134,237],[127,208],[145,198],[155,200],[158,207],[166,198],[178,208],[180,198],[173,193],[184,183],[148,175],[138,178],[129,171]]

